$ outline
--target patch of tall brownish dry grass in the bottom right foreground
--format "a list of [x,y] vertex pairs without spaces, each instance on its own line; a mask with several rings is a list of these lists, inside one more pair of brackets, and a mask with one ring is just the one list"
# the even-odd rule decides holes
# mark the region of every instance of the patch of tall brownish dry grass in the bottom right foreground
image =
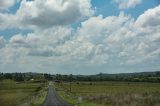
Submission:
[[89,102],[111,106],[160,106],[160,93],[108,93],[83,96]]

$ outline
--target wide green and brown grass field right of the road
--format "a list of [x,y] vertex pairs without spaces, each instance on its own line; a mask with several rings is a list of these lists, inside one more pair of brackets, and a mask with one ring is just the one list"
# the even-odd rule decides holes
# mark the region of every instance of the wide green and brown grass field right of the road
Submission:
[[160,106],[159,83],[74,82],[55,84],[60,96],[77,106]]

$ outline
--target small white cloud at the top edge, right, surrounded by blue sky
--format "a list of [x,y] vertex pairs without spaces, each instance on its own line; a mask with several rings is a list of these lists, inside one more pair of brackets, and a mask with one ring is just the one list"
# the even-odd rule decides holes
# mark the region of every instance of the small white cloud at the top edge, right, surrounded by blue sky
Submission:
[[142,2],[142,0],[113,0],[119,5],[120,9],[134,8]]

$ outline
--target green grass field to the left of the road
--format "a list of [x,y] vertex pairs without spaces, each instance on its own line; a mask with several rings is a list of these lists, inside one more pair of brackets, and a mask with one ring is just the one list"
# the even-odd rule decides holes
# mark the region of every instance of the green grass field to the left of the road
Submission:
[[[45,99],[44,83],[21,82],[12,80],[0,82],[0,106],[39,106]],[[42,97],[43,96],[43,97]]]

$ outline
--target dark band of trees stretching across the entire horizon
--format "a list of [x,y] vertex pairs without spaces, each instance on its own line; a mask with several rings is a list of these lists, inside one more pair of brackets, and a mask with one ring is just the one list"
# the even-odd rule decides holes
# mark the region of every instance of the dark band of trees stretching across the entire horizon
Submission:
[[97,75],[51,75],[41,73],[0,73],[0,80],[15,81],[58,80],[58,81],[130,81],[130,82],[160,82],[160,71],[127,73],[127,74],[97,74]]

